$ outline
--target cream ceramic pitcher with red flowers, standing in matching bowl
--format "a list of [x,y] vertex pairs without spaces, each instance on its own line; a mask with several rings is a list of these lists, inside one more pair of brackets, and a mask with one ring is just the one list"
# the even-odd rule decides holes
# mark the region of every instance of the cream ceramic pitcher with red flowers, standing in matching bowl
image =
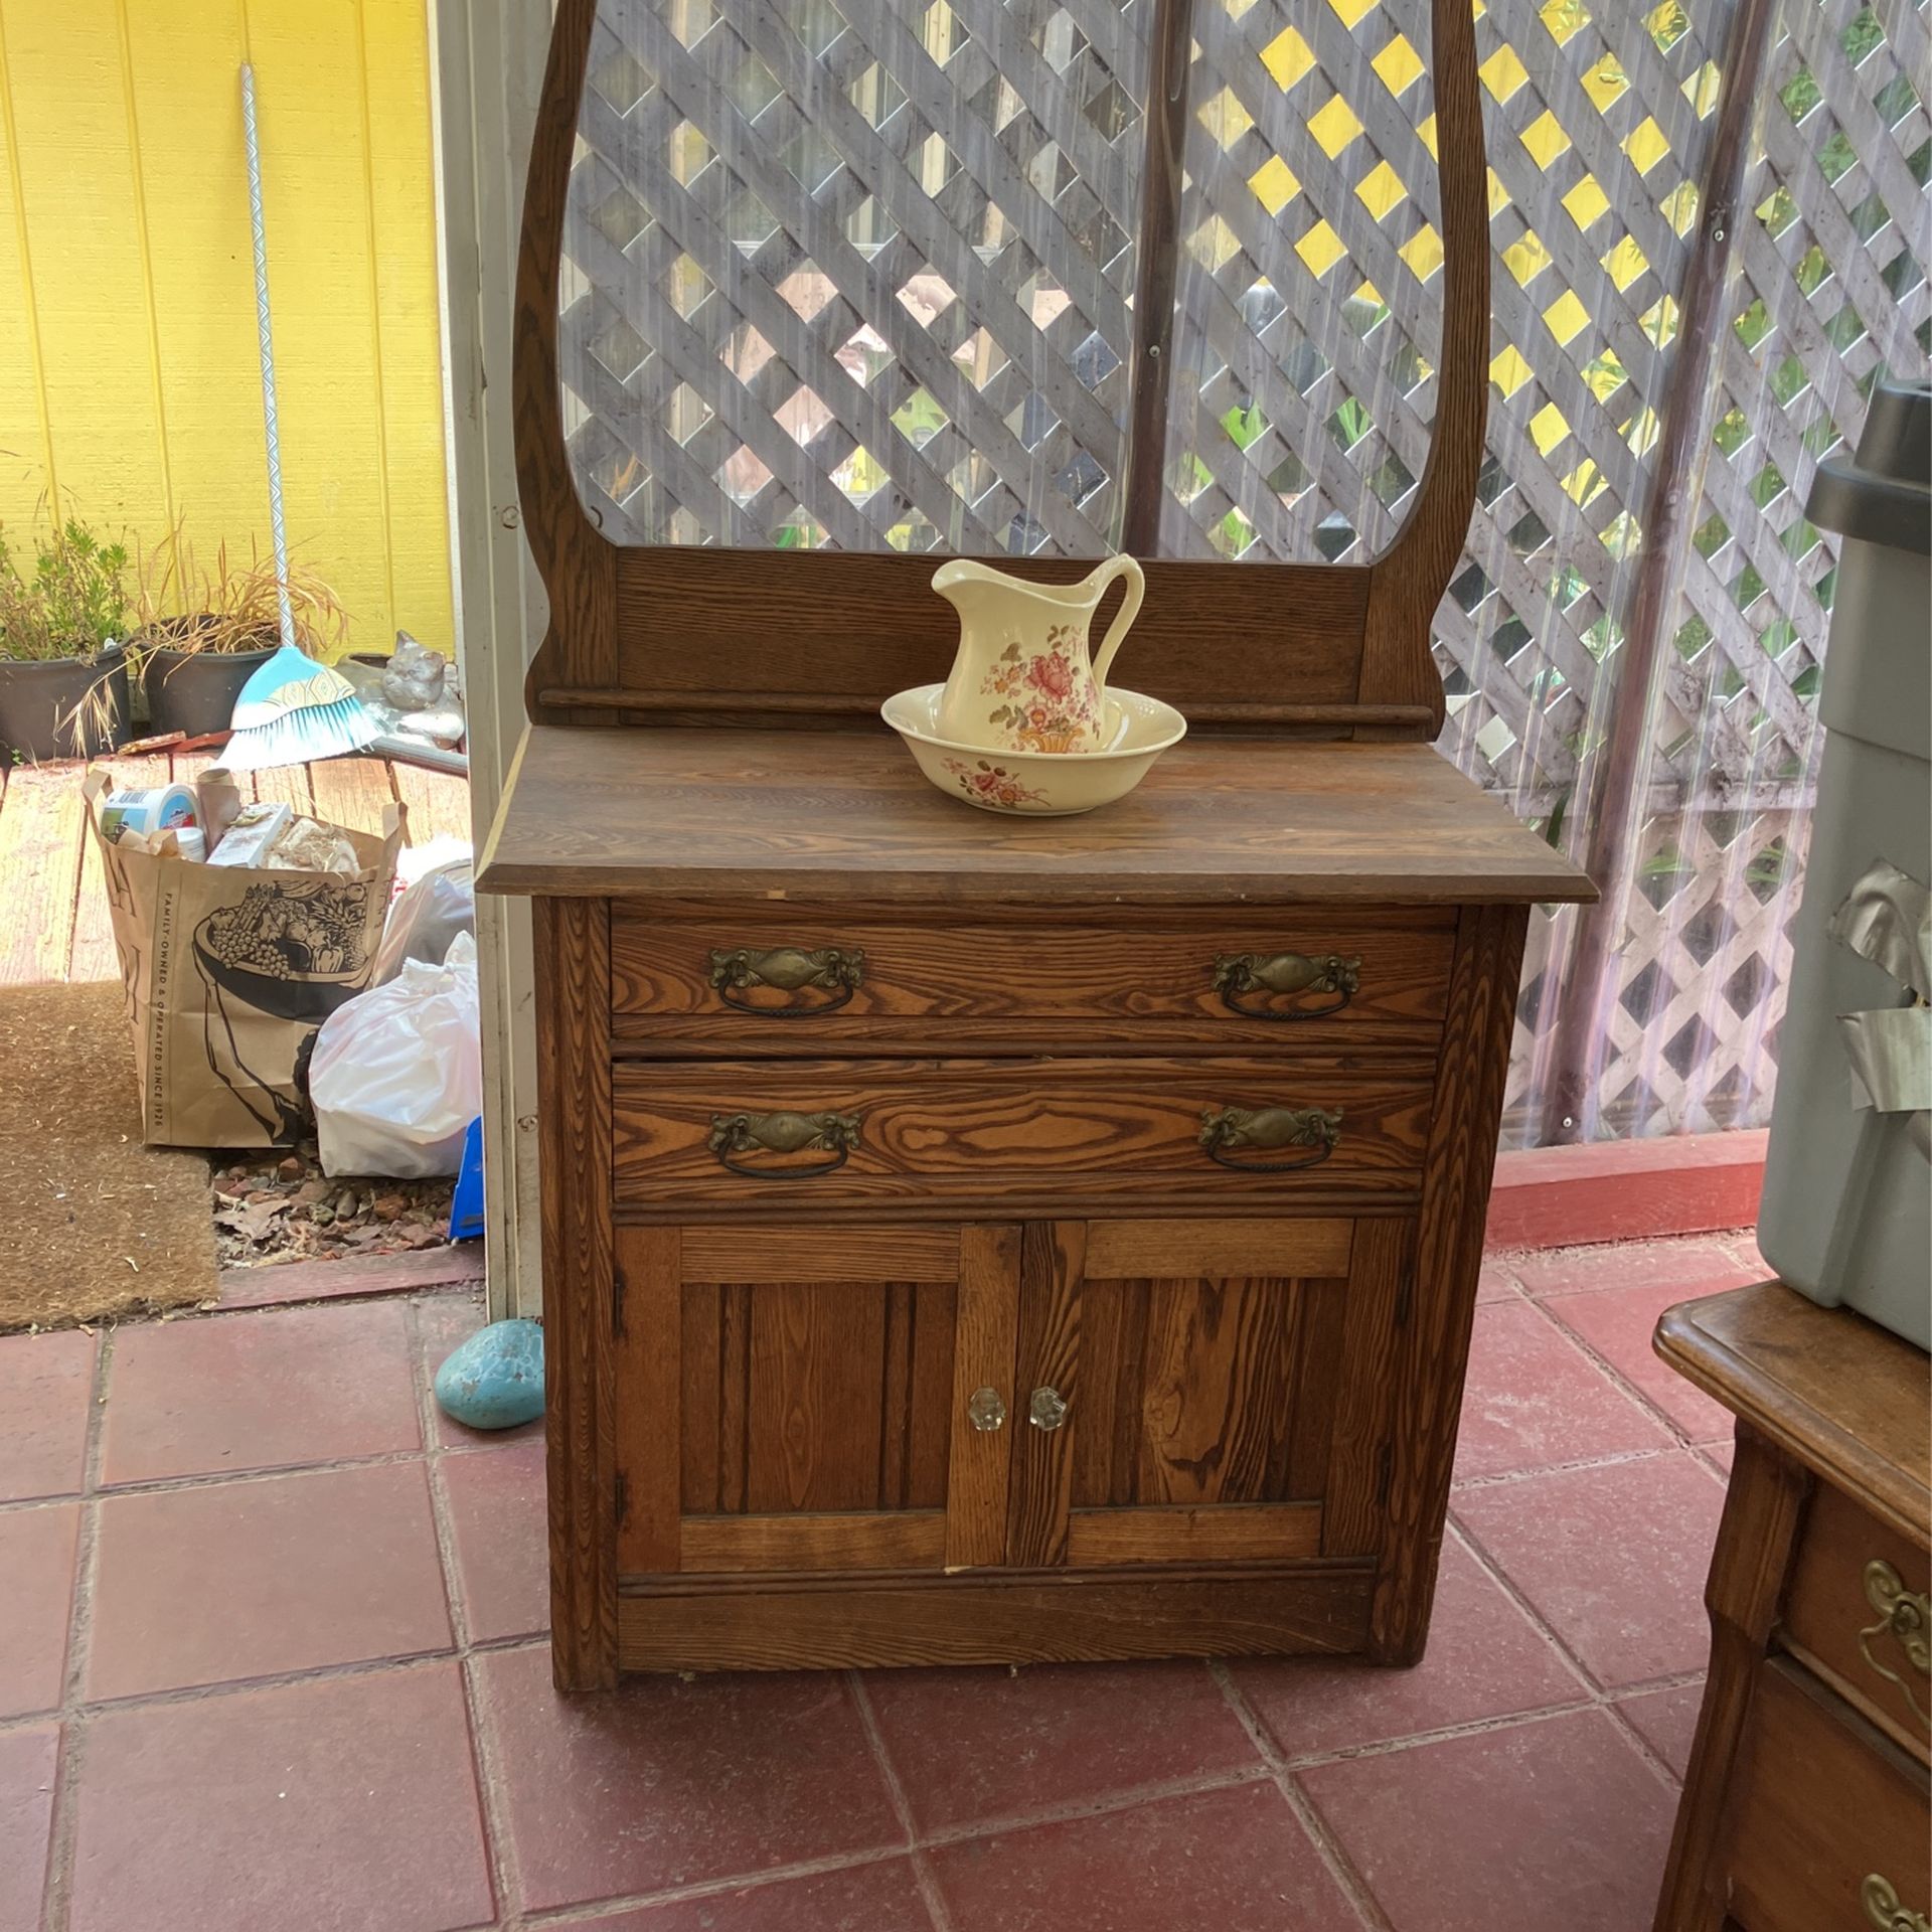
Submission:
[[[1094,657],[1088,626],[1115,578],[1126,580],[1126,595]],[[933,589],[960,614],[941,738],[999,752],[1094,752],[1105,742],[1107,670],[1146,593],[1132,556],[1111,556],[1078,583],[1028,583],[958,556],[939,566]]]

